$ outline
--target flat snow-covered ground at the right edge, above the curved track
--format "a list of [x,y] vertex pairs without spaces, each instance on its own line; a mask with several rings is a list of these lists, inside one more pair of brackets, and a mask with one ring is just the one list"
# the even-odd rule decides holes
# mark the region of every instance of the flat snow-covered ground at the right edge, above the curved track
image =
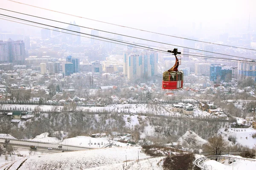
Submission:
[[221,128],[218,131],[218,134],[221,134],[224,139],[228,139],[229,136],[236,137],[236,141],[239,144],[248,146],[250,148],[255,147],[256,139],[252,138],[252,134],[256,133],[256,129],[252,127],[249,128],[228,128],[227,131],[224,131],[225,128]]

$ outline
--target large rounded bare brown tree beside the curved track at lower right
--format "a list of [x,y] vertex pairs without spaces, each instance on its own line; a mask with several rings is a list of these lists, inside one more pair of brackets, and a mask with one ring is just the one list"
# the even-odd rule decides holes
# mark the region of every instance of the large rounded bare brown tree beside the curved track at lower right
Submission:
[[208,143],[204,145],[204,148],[208,152],[216,156],[220,156],[221,153],[227,149],[227,146],[228,146],[227,141],[224,140],[221,135],[219,135],[219,136],[213,136],[209,138]]

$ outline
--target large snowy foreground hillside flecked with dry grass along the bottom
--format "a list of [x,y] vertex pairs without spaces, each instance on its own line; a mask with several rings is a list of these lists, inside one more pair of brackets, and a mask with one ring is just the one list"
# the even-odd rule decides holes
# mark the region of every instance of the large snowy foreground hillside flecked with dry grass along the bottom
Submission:
[[[68,153],[52,153],[29,157],[19,170],[76,170],[93,167],[101,167],[111,164],[118,164],[127,160],[132,161],[139,158],[146,158],[144,153],[140,153],[137,147],[114,147],[96,150],[83,150]],[[119,169],[122,169],[120,164]]]

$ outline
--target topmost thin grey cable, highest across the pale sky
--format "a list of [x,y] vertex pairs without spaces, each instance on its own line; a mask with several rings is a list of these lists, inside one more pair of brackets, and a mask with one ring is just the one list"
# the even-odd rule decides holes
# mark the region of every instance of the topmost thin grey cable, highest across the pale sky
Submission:
[[[14,0],[9,0],[9,1],[12,1],[14,3],[23,4],[23,5],[26,5],[26,6],[32,6],[32,5],[29,5],[29,4],[26,4],[26,3],[20,3],[20,2],[14,1]],[[113,25],[113,26],[120,26],[120,27],[123,27],[123,28],[130,28],[130,29],[134,29],[134,30],[139,30],[139,31],[144,31],[144,32],[148,32],[148,33],[164,35],[164,36],[168,36],[168,37],[175,37],[175,38],[180,38],[180,39],[184,39],[184,40],[191,40],[191,41],[204,42],[204,43],[213,44],[213,45],[221,45],[221,46],[225,46],[225,47],[240,48],[240,49],[245,49],[245,50],[256,51],[256,49],[251,49],[251,48],[243,48],[243,47],[236,47],[236,46],[232,46],[232,45],[218,44],[218,43],[214,43],[214,42],[194,40],[194,39],[190,39],[190,38],[184,38],[184,37],[178,37],[178,36],[173,36],[173,35],[169,35],[169,34],[162,34],[162,33],[158,33],[158,32],[147,31],[147,30],[143,30],[143,29],[139,29],[139,28],[122,26],[122,25],[118,25],[118,24],[114,24],[114,23],[108,23],[108,22],[105,22],[105,21],[94,20],[94,19],[90,19],[90,18],[86,18],[86,17],[81,17],[81,16],[77,16],[77,15],[73,15],[73,14],[68,14],[68,13],[65,13],[65,12],[60,12],[60,11],[55,11],[55,10],[51,10],[51,9],[47,9],[47,8],[42,8],[42,7],[39,7],[39,6],[32,6],[32,7],[44,9],[44,10],[47,10],[47,11],[57,12],[57,13],[60,13],[60,14],[70,15],[70,16],[73,16],[73,17],[79,17],[79,18],[86,19],[86,20],[92,20],[92,21],[96,21],[96,22],[100,22],[100,23],[110,24],[110,25]]]

